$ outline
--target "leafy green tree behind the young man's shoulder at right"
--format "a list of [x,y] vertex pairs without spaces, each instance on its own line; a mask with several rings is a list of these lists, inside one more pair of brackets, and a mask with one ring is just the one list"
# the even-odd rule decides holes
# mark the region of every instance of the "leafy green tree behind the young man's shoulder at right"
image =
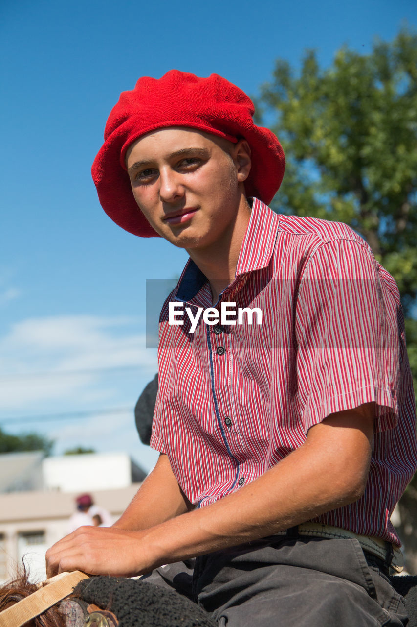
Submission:
[[[314,51],[299,71],[278,60],[259,104],[287,157],[272,208],[348,223],[368,241],[398,283],[417,390],[417,34],[403,28],[369,55],[344,47],[328,68]],[[414,475],[400,502],[409,572],[416,505]]]

